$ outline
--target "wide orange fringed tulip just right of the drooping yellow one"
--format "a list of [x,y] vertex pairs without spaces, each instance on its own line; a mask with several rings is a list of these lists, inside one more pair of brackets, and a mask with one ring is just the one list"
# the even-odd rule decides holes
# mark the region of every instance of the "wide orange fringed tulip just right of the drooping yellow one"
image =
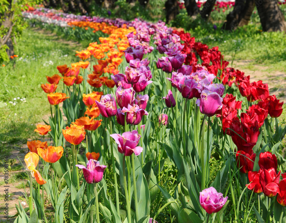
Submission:
[[38,154],[48,163],[55,163],[63,156],[63,148],[61,146],[48,146],[45,149],[37,148]]

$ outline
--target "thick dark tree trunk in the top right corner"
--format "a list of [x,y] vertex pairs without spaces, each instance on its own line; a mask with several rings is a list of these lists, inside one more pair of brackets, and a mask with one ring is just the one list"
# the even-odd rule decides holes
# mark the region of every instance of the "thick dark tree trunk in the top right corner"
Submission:
[[263,31],[286,32],[285,18],[278,6],[277,0],[255,0],[255,5]]

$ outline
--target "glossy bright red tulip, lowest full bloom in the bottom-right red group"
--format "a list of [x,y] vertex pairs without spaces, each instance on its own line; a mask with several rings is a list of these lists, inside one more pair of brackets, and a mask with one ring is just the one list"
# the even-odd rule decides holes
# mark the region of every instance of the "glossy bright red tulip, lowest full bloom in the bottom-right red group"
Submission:
[[262,191],[267,197],[274,197],[279,192],[280,171],[276,174],[274,168],[262,169],[259,175],[259,183]]

